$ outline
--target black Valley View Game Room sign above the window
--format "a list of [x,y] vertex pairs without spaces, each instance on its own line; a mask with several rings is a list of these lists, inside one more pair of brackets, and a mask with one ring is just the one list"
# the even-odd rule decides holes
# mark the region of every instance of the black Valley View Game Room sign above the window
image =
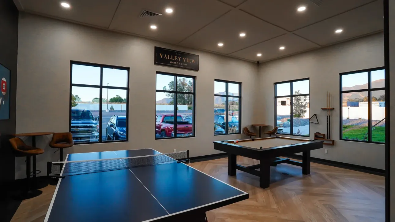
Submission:
[[154,65],[199,70],[199,55],[155,47]]

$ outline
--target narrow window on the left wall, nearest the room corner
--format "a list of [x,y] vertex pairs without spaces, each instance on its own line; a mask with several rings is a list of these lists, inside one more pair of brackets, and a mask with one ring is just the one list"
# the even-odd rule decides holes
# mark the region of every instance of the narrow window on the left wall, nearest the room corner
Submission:
[[214,135],[240,133],[241,83],[214,81]]

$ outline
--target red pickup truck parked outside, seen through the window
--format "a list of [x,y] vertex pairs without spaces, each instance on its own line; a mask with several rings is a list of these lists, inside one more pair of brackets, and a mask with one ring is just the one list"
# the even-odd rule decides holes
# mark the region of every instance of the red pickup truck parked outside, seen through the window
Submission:
[[[192,136],[192,124],[184,121],[181,115],[177,115],[177,137]],[[155,133],[161,138],[173,137],[174,114],[156,115]]]

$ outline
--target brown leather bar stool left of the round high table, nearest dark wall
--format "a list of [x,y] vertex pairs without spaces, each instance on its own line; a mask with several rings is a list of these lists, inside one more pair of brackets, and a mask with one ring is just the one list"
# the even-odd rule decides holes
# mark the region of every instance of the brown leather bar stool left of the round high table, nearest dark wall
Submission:
[[[42,193],[41,190],[30,190],[30,176],[36,179],[36,175],[41,173],[41,170],[36,170],[36,155],[44,153],[43,149],[26,145],[21,138],[11,138],[9,142],[12,145],[15,157],[26,157],[26,193],[23,199],[32,198]],[[30,157],[33,157],[33,172],[30,172]],[[36,183],[36,181],[34,181]]]

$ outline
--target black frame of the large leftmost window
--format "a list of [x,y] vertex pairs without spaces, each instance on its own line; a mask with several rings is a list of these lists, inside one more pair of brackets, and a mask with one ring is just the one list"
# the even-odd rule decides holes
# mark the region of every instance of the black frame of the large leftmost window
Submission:
[[[100,68],[100,84],[99,85],[88,85],[88,84],[73,84],[73,65],[85,65],[85,66],[92,66],[92,67],[99,67]],[[118,86],[104,86],[103,85],[103,68],[108,69],[120,69],[125,70],[126,74],[126,87],[118,87]],[[79,62],[79,61],[70,61],[70,116],[69,116],[69,132],[71,132],[71,93],[72,87],[86,87],[86,88],[98,88],[99,89],[99,141],[97,142],[78,142],[75,144],[101,144],[101,143],[116,143],[116,142],[128,142],[129,141],[129,76],[130,68],[129,67],[122,67],[122,66],[115,66],[115,65],[104,65],[99,63],[89,63],[89,62]],[[126,140],[102,140],[102,103],[103,103],[103,89],[115,89],[115,90],[126,90]],[[107,98],[108,101],[108,98]],[[112,118],[112,117],[111,117]],[[111,119],[110,118],[110,119]],[[106,126],[107,127],[107,126]],[[72,133],[72,132],[71,132]]]

